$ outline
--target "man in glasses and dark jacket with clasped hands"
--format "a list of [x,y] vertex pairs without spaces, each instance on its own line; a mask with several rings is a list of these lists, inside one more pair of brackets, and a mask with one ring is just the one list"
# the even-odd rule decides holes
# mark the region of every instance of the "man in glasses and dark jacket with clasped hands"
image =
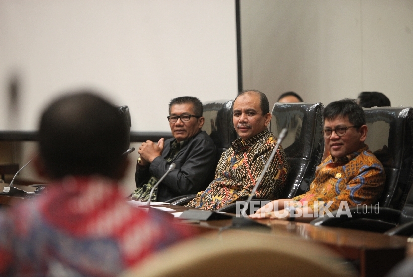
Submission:
[[217,163],[216,146],[205,131],[203,107],[196,97],[183,96],[169,103],[169,126],[174,138],[157,143],[147,140],[139,147],[136,190],[132,199],[146,201],[156,182],[171,163],[176,167],[155,188],[151,200],[165,202],[177,196],[195,194],[213,180]]

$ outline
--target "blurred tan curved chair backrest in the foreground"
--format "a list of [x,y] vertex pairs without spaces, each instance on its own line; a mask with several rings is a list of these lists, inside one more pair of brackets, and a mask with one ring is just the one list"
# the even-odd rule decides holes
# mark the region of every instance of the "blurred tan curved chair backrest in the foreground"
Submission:
[[121,277],[356,276],[337,253],[288,236],[226,230],[160,251]]

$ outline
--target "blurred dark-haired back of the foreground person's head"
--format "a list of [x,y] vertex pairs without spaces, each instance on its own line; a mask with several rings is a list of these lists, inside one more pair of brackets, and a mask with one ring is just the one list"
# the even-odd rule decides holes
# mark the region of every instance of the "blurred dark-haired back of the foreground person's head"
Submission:
[[94,174],[116,178],[129,142],[124,114],[91,91],[60,97],[41,116],[40,157],[52,178]]

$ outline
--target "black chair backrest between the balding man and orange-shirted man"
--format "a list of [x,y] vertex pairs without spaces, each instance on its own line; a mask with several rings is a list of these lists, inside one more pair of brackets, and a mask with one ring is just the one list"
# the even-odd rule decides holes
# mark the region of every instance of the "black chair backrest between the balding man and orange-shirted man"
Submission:
[[281,145],[290,165],[287,191],[283,198],[305,193],[324,151],[322,103],[275,103],[270,131],[276,136],[288,127]]

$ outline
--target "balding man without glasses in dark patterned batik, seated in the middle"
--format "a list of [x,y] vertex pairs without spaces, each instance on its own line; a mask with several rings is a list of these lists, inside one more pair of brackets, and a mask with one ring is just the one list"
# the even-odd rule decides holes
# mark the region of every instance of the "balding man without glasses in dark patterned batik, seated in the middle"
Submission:
[[[240,138],[221,155],[215,180],[187,206],[216,210],[248,198],[277,142],[274,134],[267,130],[271,120],[269,109],[268,99],[262,92],[252,90],[238,95],[232,119]],[[279,198],[288,170],[284,150],[280,147],[256,191],[257,197]]]

